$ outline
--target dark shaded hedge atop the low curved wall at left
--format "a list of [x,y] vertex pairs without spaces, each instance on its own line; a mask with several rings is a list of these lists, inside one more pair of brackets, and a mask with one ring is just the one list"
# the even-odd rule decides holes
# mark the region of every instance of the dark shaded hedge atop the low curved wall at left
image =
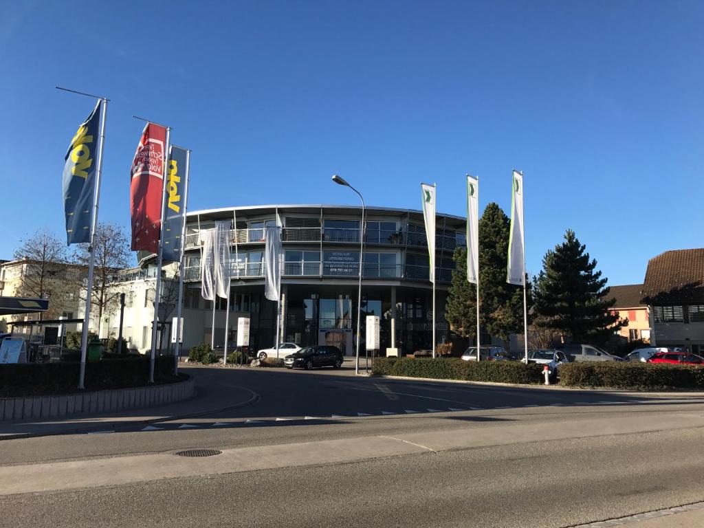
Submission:
[[[170,356],[156,358],[154,381],[176,381],[174,360]],[[77,391],[80,363],[14,363],[0,365],[0,397],[66,394]],[[102,359],[86,364],[85,388],[119,389],[146,385],[149,381],[149,358]]]

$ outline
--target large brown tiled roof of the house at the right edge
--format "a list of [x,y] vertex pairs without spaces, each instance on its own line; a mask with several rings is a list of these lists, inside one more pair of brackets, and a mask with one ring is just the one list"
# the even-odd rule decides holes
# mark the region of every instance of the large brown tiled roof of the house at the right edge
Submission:
[[704,303],[704,248],[665,251],[648,260],[643,301]]

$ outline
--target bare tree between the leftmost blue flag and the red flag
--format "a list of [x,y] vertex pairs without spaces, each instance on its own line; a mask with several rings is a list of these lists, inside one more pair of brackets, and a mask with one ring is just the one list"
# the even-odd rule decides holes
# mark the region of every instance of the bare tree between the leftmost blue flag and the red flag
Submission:
[[[103,313],[109,311],[120,299],[122,290],[115,287],[118,272],[130,265],[132,252],[122,227],[115,224],[99,224],[95,232],[95,265],[93,272],[93,289],[91,291],[92,310],[103,319]],[[77,263],[90,263],[89,244],[79,244],[75,252]],[[82,287],[82,299],[86,299],[86,286]]]

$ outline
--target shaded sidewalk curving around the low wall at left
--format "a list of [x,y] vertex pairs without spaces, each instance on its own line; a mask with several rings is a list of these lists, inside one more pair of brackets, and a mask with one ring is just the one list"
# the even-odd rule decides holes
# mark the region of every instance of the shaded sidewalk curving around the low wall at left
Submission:
[[[178,420],[180,418],[214,413],[243,407],[254,403],[259,396],[244,386],[233,386],[231,379],[224,378],[214,369],[182,367],[196,382],[196,396],[186,401],[139,409],[127,409],[116,413],[76,415],[57,420],[34,419],[0,422],[0,440],[48,436],[53,434],[75,434],[101,432],[128,424]],[[213,379],[215,378],[215,379]],[[222,382],[230,382],[225,386]]]

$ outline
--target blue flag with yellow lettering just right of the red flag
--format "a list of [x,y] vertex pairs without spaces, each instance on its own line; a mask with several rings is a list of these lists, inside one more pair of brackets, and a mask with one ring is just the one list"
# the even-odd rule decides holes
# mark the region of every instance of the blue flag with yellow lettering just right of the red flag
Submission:
[[163,262],[181,260],[183,215],[186,213],[186,181],[188,174],[186,149],[171,146],[166,165],[166,210],[164,212],[164,237],[161,246]]

